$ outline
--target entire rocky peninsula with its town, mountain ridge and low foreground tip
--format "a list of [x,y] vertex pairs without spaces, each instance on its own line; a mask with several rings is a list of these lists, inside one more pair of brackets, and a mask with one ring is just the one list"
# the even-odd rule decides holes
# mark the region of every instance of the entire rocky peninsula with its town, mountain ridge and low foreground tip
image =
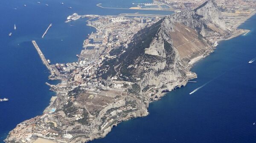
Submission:
[[[190,67],[219,40],[247,32],[227,28],[215,0],[145,24],[124,17],[100,21],[105,25],[97,34],[107,38],[92,34],[93,43],[84,41],[78,62],[49,65],[49,79],[61,80],[47,83],[57,95],[43,115],[18,124],[6,143],[84,143],[105,137],[118,123],[148,115],[150,102],[196,78]],[[108,32],[108,26],[119,30]],[[127,33],[128,28],[133,30]]]

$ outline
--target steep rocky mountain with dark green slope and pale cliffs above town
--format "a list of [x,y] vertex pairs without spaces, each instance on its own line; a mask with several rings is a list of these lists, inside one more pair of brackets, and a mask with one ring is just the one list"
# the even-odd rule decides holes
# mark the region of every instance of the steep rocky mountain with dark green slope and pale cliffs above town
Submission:
[[[172,90],[187,82],[185,65],[204,54],[217,36],[227,34],[221,10],[208,0],[192,11],[169,15],[135,34],[128,48],[113,50],[98,70],[103,79],[137,84],[137,93],[149,87]],[[125,52],[123,52],[125,50]]]

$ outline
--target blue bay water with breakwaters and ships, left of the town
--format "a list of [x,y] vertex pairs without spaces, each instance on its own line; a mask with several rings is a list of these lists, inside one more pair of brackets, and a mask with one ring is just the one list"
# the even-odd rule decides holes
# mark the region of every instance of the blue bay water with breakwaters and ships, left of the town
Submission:
[[[173,13],[96,6],[102,3],[104,7],[129,8],[134,6],[132,3],[146,2],[151,0],[0,0],[0,98],[9,98],[9,102],[0,102],[0,143],[18,123],[41,115],[55,94],[45,82],[58,82],[48,81],[49,71],[42,64],[32,40],[52,64],[77,62],[76,54],[80,54],[84,39],[96,30],[86,26],[87,19],[65,23],[67,16],[75,12],[80,15]],[[42,39],[50,23],[52,27]],[[10,32],[12,36],[8,35]]]

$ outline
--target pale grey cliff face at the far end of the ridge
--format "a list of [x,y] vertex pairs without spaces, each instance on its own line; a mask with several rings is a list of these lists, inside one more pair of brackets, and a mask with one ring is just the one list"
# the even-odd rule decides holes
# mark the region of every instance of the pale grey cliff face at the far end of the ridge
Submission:
[[181,23],[189,28],[196,29],[204,37],[223,36],[226,26],[221,10],[215,0],[208,0],[193,11],[184,11],[166,17],[168,21]]

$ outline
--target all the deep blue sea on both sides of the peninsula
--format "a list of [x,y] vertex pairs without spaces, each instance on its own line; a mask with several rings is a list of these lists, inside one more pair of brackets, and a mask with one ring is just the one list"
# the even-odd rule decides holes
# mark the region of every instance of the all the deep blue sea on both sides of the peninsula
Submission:
[[[52,63],[76,62],[83,40],[96,30],[86,26],[87,19],[64,23],[68,15],[172,14],[96,6],[129,8],[151,0],[37,1],[0,0],[0,98],[9,98],[0,102],[0,143],[18,123],[41,115],[55,94],[45,82],[57,81],[48,81],[49,71],[31,40],[36,40]],[[248,64],[256,57],[255,25],[253,16],[240,26],[250,33],[220,42],[214,53],[195,64],[192,71],[198,74],[197,83],[168,93],[150,104],[147,117],[119,123],[105,138],[91,143],[255,143],[256,62]]]

